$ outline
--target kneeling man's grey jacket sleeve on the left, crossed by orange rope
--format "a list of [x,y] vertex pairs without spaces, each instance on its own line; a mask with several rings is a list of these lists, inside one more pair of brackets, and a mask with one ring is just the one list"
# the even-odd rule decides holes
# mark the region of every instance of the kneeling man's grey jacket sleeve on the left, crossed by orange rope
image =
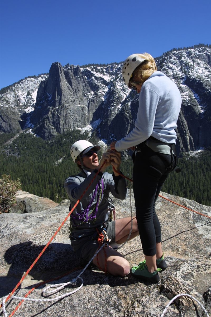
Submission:
[[[84,181],[81,183],[77,177],[68,177],[65,180],[64,188],[67,192],[68,197],[72,201],[77,201],[82,194],[82,201],[84,198],[88,197],[92,191],[95,189],[97,183],[102,178],[103,173],[99,172],[96,176],[97,170],[94,170],[87,178],[84,178]],[[93,178],[96,178],[93,180]]]

